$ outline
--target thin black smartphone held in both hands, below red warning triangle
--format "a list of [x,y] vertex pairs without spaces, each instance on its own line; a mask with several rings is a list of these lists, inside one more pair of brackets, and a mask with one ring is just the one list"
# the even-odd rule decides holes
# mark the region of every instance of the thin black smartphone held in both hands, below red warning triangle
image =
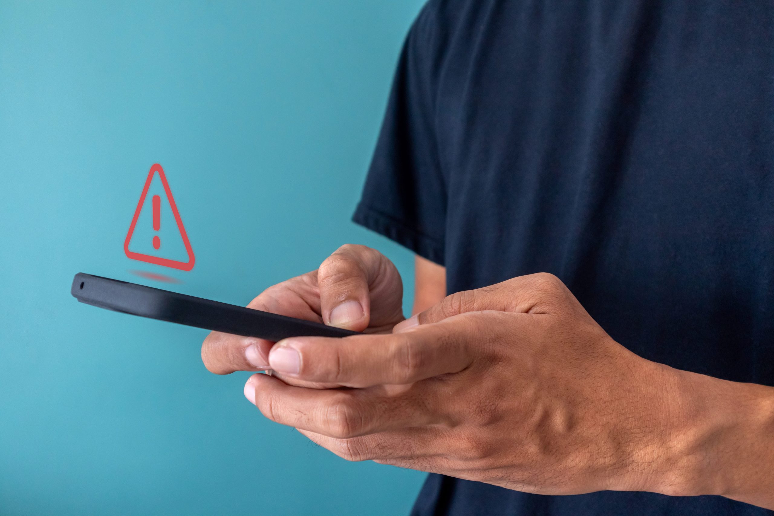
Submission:
[[348,337],[358,334],[322,323],[83,272],[75,275],[70,293],[80,302],[116,312],[274,342],[287,337]]

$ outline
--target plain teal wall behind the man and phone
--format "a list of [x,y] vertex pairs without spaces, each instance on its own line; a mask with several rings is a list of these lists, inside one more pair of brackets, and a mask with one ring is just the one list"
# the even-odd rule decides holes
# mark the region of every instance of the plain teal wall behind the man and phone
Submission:
[[[420,0],[0,0],[0,514],[406,514],[200,362],[206,331],[77,303],[74,273],[246,304],[340,244]],[[163,165],[191,272],[125,257]],[[165,220],[165,219],[163,219]],[[166,219],[168,220],[168,219]]]

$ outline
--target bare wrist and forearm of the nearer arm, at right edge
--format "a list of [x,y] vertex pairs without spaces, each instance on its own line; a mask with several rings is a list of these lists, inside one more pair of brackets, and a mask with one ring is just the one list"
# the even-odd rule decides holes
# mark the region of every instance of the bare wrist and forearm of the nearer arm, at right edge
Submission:
[[657,492],[716,494],[774,509],[774,388],[671,370],[677,424]]

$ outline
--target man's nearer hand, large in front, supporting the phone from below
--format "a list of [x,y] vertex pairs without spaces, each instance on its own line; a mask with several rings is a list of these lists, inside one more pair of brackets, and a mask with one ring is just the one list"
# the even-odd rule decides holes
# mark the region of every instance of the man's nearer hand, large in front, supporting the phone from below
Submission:
[[347,460],[540,494],[709,490],[683,371],[616,343],[553,275],[458,292],[391,334],[286,339],[269,363],[341,386],[255,374],[245,396]]

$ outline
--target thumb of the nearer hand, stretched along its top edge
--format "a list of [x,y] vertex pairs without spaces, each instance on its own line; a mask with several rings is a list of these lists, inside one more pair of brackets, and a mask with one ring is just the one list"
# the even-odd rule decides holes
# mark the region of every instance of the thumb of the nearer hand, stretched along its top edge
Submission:
[[418,324],[437,323],[461,313],[496,310],[512,313],[546,313],[549,301],[569,293],[556,276],[539,272],[509,279],[481,289],[454,292],[443,301],[396,324],[393,332],[408,330]]

